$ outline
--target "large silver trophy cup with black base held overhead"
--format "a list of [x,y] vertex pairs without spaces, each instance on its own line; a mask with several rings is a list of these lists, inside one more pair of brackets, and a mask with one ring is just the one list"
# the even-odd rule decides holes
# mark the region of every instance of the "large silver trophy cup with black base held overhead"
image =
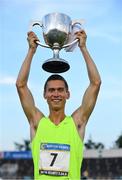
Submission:
[[77,43],[77,39],[72,42],[73,28],[81,25],[82,20],[71,21],[70,17],[62,13],[51,13],[43,17],[42,21],[34,21],[31,27],[39,25],[43,30],[43,37],[46,44],[36,43],[42,47],[51,48],[53,50],[53,58],[46,60],[42,68],[51,73],[62,73],[69,70],[68,62],[59,57],[59,51],[68,48]]

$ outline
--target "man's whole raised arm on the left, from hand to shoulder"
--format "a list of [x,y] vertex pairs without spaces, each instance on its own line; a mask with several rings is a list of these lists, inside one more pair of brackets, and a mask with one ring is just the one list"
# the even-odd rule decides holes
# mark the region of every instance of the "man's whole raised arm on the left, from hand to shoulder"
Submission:
[[28,33],[29,49],[17,77],[16,87],[25,115],[31,126],[36,127],[43,114],[36,108],[33,96],[27,86],[32,58],[36,52],[38,38],[33,32]]

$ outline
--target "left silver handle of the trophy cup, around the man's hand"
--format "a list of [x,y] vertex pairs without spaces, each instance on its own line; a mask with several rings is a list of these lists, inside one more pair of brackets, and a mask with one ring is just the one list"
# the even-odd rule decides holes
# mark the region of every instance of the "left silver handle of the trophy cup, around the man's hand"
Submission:
[[[41,21],[31,21],[29,24],[29,31],[32,31],[33,26],[40,26],[42,27],[42,22]],[[46,44],[42,44],[40,43],[40,41],[36,41],[36,43],[42,47],[46,47],[46,48],[50,48],[50,46],[46,45]]]

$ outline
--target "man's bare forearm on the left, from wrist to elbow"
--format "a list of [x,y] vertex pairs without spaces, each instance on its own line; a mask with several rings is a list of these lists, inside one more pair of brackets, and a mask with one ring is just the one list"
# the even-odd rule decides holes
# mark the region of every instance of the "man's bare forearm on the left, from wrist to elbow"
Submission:
[[19,87],[23,87],[24,85],[27,84],[33,56],[34,56],[34,52],[32,49],[29,48],[16,81],[16,85]]

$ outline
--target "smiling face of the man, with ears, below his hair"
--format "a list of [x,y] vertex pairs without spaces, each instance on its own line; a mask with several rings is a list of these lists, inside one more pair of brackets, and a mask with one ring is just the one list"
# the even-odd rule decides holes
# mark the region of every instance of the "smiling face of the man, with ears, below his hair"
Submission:
[[51,80],[47,83],[44,98],[47,99],[49,108],[59,110],[64,108],[66,99],[69,98],[69,91],[61,80]]

